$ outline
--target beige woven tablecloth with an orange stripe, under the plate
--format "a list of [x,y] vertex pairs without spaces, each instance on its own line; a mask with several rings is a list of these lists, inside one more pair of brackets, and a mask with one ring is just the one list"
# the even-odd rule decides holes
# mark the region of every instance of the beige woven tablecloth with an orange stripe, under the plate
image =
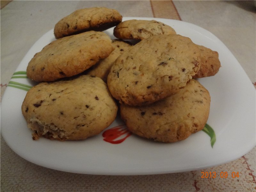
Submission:
[[[6,4],[4,4],[6,3]],[[22,58],[61,18],[104,6],[124,17],[182,20],[217,36],[256,85],[253,1],[1,1],[1,97]],[[2,111],[1,111],[2,112]],[[61,172],[32,164],[1,136],[1,191],[256,191],[256,148],[215,167],[190,172],[108,176]],[[239,178],[202,179],[201,172],[239,172]]]

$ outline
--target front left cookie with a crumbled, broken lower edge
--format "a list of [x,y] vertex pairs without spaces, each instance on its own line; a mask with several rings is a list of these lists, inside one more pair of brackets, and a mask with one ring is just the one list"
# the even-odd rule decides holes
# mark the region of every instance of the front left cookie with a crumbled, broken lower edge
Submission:
[[84,140],[107,128],[117,113],[106,83],[89,75],[40,83],[21,109],[34,140]]

